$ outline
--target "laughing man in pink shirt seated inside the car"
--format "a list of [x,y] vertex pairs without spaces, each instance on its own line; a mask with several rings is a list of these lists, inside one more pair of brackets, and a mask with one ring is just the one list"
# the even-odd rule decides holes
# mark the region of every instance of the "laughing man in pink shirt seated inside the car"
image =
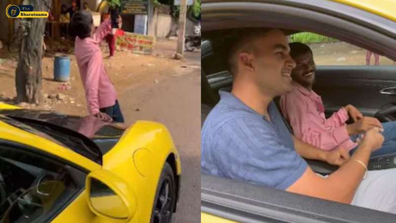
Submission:
[[[291,43],[290,49],[297,64],[292,71],[294,90],[281,97],[280,105],[297,138],[322,150],[344,148],[353,151],[358,146],[358,134],[380,127],[384,129],[385,142],[371,156],[396,152],[396,122],[381,123],[377,118],[363,116],[352,105],[326,118],[322,99],[312,90],[316,65],[311,49],[302,43]],[[345,123],[349,117],[354,123]]]

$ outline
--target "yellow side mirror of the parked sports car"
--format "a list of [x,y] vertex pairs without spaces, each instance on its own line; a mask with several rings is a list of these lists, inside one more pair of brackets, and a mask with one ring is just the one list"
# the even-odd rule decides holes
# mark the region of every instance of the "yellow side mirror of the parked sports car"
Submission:
[[97,216],[128,221],[135,215],[137,200],[129,185],[114,173],[99,169],[86,178],[88,205]]

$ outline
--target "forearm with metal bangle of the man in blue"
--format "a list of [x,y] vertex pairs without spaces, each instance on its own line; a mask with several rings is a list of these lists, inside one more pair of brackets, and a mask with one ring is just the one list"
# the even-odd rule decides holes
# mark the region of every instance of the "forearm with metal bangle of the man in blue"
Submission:
[[329,190],[332,191],[328,195],[336,201],[350,204],[366,171],[363,165],[356,160],[367,167],[370,154],[370,148],[360,145],[349,161],[326,178],[327,184],[331,188]]

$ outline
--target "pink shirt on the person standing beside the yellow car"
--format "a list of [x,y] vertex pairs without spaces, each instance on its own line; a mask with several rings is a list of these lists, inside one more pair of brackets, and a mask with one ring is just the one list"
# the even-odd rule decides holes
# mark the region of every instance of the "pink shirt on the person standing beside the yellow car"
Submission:
[[104,20],[93,37],[76,37],[74,53],[76,55],[81,80],[85,89],[88,111],[99,112],[99,108],[115,105],[117,93],[103,66],[99,43],[111,31],[110,19]]

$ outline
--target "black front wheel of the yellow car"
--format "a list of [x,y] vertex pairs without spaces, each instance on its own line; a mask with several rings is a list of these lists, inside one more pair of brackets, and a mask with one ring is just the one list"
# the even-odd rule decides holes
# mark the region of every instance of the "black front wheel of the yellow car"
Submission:
[[171,223],[176,204],[176,183],[172,167],[165,163],[159,177],[150,223]]

